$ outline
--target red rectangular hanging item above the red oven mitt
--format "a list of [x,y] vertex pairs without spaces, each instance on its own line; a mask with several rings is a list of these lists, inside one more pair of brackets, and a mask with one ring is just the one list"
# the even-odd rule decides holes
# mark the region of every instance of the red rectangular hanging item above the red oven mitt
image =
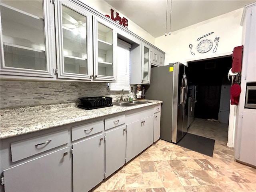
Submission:
[[241,72],[242,69],[242,55],[243,55],[243,46],[235,47],[232,54],[232,69],[234,72]]

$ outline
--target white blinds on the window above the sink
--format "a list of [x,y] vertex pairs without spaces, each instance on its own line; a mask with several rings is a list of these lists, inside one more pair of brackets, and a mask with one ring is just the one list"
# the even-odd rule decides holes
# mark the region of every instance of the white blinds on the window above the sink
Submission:
[[117,44],[117,82],[109,83],[109,91],[130,91],[130,48],[120,39]]

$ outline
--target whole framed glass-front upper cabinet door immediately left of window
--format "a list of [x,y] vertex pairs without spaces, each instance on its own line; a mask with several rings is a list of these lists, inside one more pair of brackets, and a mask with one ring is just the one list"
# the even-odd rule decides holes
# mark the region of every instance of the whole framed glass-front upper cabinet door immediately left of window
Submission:
[[117,34],[106,20],[94,17],[94,79],[116,80]]

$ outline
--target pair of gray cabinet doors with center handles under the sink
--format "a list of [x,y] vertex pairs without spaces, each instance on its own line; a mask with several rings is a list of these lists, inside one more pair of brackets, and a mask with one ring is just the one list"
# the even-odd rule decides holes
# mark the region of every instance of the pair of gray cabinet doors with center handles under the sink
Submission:
[[153,143],[154,116],[127,125],[126,162]]

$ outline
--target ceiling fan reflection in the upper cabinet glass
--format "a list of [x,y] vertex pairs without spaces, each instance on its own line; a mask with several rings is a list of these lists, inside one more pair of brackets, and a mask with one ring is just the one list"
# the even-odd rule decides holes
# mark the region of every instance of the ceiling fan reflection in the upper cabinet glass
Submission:
[[63,18],[71,24],[62,24],[63,27],[72,30],[75,35],[80,34],[82,38],[86,38],[86,22],[75,20],[72,16],[66,12],[62,12],[62,23]]

